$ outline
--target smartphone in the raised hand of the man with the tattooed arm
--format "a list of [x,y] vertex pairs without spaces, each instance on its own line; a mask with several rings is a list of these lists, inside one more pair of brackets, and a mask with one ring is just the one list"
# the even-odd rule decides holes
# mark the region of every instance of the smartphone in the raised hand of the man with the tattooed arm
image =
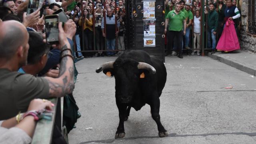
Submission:
[[58,14],[45,16],[46,43],[49,45],[59,43]]

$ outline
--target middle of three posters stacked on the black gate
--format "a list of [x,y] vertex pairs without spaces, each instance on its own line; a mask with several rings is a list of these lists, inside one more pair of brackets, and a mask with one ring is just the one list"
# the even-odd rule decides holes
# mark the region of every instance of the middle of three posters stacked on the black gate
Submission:
[[156,37],[156,19],[144,20],[144,37]]

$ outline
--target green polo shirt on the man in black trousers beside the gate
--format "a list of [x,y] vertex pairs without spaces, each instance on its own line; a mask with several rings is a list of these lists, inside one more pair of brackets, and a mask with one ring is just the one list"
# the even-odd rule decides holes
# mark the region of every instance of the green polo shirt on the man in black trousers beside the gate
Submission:
[[184,12],[180,11],[178,14],[174,10],[170,11],[167,15],[170,25],[169,30],[181,31],[183,29],[183,20],[186,19]]

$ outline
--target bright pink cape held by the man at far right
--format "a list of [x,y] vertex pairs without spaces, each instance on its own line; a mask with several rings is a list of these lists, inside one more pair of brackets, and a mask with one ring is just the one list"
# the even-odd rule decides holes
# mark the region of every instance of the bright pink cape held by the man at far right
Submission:
[[233,20],[227,20],[226,26],[220,36],[216,49],[218,51],[230,52],[233,50],[239,50],[240,45],[236,35],[236,29]]

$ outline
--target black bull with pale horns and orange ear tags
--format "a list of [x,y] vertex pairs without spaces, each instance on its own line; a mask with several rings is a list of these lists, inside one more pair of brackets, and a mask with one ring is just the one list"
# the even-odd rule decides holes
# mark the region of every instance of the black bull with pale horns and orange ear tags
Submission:
[[151,108],[152,118],[156,121],[158,135],[168,136],[160,122],[159,97],[166,82],[164,63],[155,56],[142,50],[125,52],[115,62],[102,64],[96,72],[114,76],[116,80],[116,105],[119,111],[119,125],[115,138],[123,138],[124,121],[128,119],[130,108],[140,110],[145,104]]

